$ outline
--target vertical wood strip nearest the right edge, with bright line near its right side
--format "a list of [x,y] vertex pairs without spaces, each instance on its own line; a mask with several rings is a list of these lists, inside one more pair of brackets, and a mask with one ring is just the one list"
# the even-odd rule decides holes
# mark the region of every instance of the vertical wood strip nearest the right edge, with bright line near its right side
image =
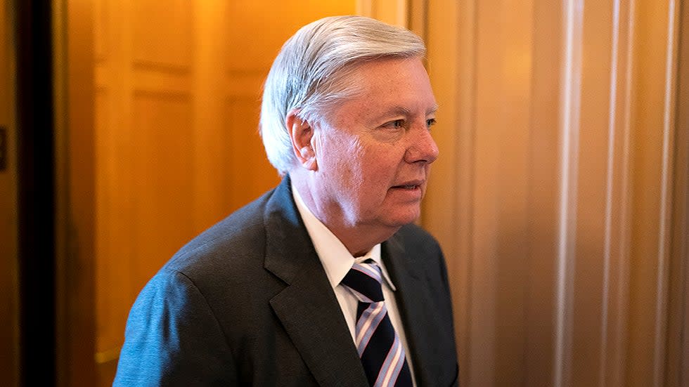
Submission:
[[675,1],[643,1],[636,8],[632,100],[634,184],[631,199],[629,358],[627,383],[662,386],[667,348],[669,276],[670,125],[674,113]]

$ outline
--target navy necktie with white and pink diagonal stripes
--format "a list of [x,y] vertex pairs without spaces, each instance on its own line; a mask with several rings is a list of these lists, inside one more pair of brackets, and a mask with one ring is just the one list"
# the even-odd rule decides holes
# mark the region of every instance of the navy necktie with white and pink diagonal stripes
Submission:
[[368,259],[354,263],[342,284],[359,299],[355,343],[371,386],[413,386],[404,346],[385,308],[380,268]]

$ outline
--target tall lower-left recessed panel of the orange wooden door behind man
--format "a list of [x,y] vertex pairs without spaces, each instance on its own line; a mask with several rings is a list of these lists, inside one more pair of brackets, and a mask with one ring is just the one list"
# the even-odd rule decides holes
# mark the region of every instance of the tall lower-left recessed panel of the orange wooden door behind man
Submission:
[[193,135],[188,96],[137,93],[133,100],[134,254],[132,284],[143,284],[193,235]]

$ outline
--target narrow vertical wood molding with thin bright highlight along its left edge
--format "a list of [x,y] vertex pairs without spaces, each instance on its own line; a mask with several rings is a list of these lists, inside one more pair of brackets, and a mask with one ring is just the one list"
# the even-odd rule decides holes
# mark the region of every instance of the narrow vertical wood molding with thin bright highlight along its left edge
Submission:
[[[624,386],[626,326],[629,315],[629,235],[631,90],[634,2],[613,8],[610,67],[610,122],[607,148],[603,306],[600,339],[600,386]],[[613,98],[614,96],[614,98]]]

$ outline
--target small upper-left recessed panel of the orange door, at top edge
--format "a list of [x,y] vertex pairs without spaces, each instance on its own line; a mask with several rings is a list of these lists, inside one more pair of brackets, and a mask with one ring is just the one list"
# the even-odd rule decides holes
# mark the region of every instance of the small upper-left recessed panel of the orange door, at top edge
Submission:
[[132,1],[132,5],[134,61],[189,69],[193,60],[195,2],[138,0]]

